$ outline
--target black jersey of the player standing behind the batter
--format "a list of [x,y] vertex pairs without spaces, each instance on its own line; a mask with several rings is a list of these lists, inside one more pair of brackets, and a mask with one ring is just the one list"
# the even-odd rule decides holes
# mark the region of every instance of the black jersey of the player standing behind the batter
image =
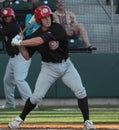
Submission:
[[11,23],[2,24],[3,28],[0,29],[0,35],[5,36],[5,47],[9,56],[14,57],[14,55],[19,53],[17,46],[11,45],[11,40],[20,32],[20,26],[16,21]]

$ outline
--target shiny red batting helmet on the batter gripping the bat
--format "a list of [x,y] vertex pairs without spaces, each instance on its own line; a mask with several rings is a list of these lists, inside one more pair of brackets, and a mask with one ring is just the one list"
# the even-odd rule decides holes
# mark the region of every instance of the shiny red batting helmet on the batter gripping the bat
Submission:
[[41,25],[41,19],[49,15],[52,15],[52,10],[46,5],[35,9],[35,19],[39,25]]

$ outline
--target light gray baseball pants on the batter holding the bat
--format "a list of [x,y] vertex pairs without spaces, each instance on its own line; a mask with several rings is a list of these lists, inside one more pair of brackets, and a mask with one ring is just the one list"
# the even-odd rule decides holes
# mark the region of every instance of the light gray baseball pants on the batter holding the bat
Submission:
[[50,86],[59,78],[73,91],[77,98],[86,97],[86,90],[82,85],[80,75],[70,59],[67,59],[66,62],[62,61],[62,63],[42,62],[41,72],[30,101],[33,104],[40,103]]

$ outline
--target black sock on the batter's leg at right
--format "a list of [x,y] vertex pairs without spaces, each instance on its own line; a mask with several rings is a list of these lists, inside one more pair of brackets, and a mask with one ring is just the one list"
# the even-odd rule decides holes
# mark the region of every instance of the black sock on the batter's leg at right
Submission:
[[84,118],[84,122],[86,120],[89,120],[89,108],[88,108],[88,99],[87,97],[83,98],[83,99],[78,99],[78,107],[80,108],[83,118]]

